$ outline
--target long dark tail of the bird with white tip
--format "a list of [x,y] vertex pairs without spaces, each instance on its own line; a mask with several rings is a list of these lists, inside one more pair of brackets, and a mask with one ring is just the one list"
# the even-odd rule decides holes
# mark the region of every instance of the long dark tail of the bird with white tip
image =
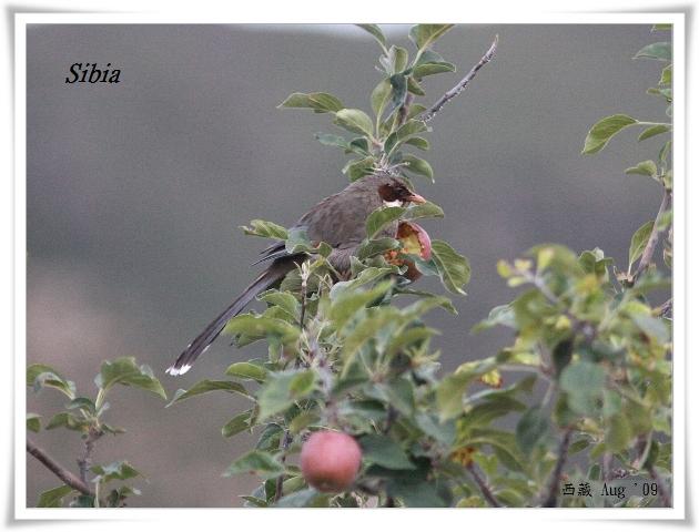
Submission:
[[186,347],[182,355],[178,357],[172,366],[170,366],[165,372],[178,376],[186,374],[194,360],[204,352],[212,341],[221,334],[229,320],[237,316],[245,306],[252,301],[259,294],[263,293],[267,288],[271,288],[276,283],[281,282],[284,276],[291,272],[295,264],[291,259],[292,257],[285,257],[283,260],[275,260],[265,269],[260,276],[253,280],[253,283],[245,288],[245,290],[226,308],[216,319],[214,319],[209,326]]

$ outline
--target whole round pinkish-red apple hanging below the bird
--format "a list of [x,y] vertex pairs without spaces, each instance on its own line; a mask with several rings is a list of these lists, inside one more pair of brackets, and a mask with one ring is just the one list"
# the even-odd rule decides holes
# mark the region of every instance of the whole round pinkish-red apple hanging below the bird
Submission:
[[318,491],[340,492],[352,485],[362,464],[362,449],[344,432],[313,432],[301,448],[301,472]]

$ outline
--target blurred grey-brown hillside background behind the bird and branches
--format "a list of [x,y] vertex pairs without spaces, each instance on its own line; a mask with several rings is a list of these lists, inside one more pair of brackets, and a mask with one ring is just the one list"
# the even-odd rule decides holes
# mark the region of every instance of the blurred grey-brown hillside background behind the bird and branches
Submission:
[[[408,27],[384,25],[412,47]],[[649,25],[458,25],[437,43],[457,65],[429,79],[433,103],[500,38],[496,59],[433,121],[426,158],[435,185],[421,194],[446,218],[423,225],[473,267],[459,316],[434,311],[435,347],[447,369],[497,352],[505,329],[470,335],[511,300],[499,258],[534,244],[601,247],[626,268],[634,232],[655,216],[660,191],[624,168],[657,150],[622,134],[595,156],[589,127],[617,112],[662,120],[645,94],[658,63],[632,61],[658,35]],[[313,134],[326,115],[277,110],[291,92],[323,91],[369,109],[378,47],[347,25],[31,25],[27,43],[28,361],[45,362],[93,393],[100,362],[135,356],[169,396],[220,378],[233,360],[265,356],[217,341],[183,377],[164,369],[252,279],[264,242],[237,228],[251,218],[283,225],[346,184],[345,157]],[[65,84],[74,62],[112,63],[119,84]],[[658,149],[661,141],[657,141]],[[650,149],[650,150],[649,150]],[[421,222],[422,224],[422,222]],[[440,293],[434,278],[421,287]],[[62,399],[28,395],[49,416]],[[129,459],[150,480],[130,505],[230,507],[256,485],[221,472],[254,437],[221,437],[246,401],[212,393],[163,408],[155,396],[116,389],[95,461]],[[78,433],[36,440],[74,467]],[[28,504],[59,484],[28,460]]]

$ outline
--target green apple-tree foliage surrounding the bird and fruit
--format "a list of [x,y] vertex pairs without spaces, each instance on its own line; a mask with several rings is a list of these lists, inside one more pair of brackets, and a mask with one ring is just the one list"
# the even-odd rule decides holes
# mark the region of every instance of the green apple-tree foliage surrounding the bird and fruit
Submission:
[[[424,95],[424,79],[455,70],[433,50],[452,24],[415,25],[412,57],[389,44],[378,25],[359,27],[382,51],[381,80],[369,98],[373,114],[347,109],[324,92],[293,93],[280,106],[328,115],[350,134],[315,136],[354,157],[343,170],[351,181],[377,171],[432,181],[429,163],[407,150],[429,147],[423,135],[430,130],[421,120],[426,108],[414,100]],[[667,29],[659,24],[654,31]],[[671,116],[669,44],[650,44],[636,58],[662,63],[659,82],[648,92],[661,99]],[[658,142],[672,130],[671,123],[614,114],[592,125],[582,153],[597,153],[637,126],[639,142]],[[629,162],[626,173],[656,181],[667,200],[671,141],[662,142],[657,157]],[[377,238],[389,223],[443,216],[432,203],[372,213],[348,278],[334,272],[327,244],[313,246],[303,231],[252,221],[243,227],[245,234],[306,255],[281,286],[259,296],[267,305],[262,314],[236,316],[223,331],[237,347],[266,342],[267,356],[236,361],[224,378],[178,390],[168,406],[212,391],[251,401],[221,429],[224,438],[243,432],[256,437],[254,447],[223,473],[260,479],[253,493],[243,497],[249,507],[667,504],[661,492],[646,501],[611,502],[559,498],[558,488],[561,472],[568,481],[605,481],[615,467],[624,474],[671,479],[672,323],[667,305],[651,303],[655,293],[669,287],[670,277],[650,262],[667,232],[663,258],[671,264],[671,209],[661,206],[632,235],[625,270],[599,248],[577,253],[556,244],[500,260],[497,272],[516,294],[473,331],[508,329],[511,345],[465,361],[453,372],[442,372],[439,351],[432,346],[438,330],[427,325],[426,316],[456,314],[455,307],[447,297],[409,286],[415,279],[411,268],[464,295],[470,280],[468,259],[439,239],[432,239],[425,254],[415,242],[417,233],[412,241],[399,232],[395,238]],[[69,399],[44,428],[63,427],[85,438],[95,431],[118,432],[101,420],[104,397],[116,385],[164,397],[150,369],[130,358],[104,362],[95,383],[93,400],[78,395],[73,382],[48,366],[28,369],[34,390],[55,389]],[[38,431],[41,417],[28,415],[27,426]],[[322,429],[341,430],[361,444],[359,474],[344,493],[308,487],[291,460]],[[123,461],[94,466],[91,472],[97,487],[140,475]],[[62,505],[71,497],[72,505],[116,507],[136,493],[123,484],[107,497],[77,497],[63,485],[44,492],[40,505]]]

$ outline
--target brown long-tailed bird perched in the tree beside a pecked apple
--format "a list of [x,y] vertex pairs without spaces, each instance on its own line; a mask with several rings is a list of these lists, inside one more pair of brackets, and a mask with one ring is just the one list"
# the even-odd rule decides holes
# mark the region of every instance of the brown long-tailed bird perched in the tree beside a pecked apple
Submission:
[[[401,177],[377,173],[355,181],[342,192],[326,197],[304,214],[293,228],[305,229],[314,244],[330,244],[333,250],[328,260],[343,274],[350,270],[351,257],[366,236],[367,216],[381,206],[404,206],[409,203],[425,203],[425,198],[413,192]],[[397,227],[398,222],[388,224],[377,236],[393,237]],[[264,249],[259,262],[272,260],[272,264],[192,340],[166,372],[176,376],[189,371],[194,360],[216,339],[232,317],[240,314],[259,294],[278,285],[303,258],[304,254],[288,254],[284,242]]]

